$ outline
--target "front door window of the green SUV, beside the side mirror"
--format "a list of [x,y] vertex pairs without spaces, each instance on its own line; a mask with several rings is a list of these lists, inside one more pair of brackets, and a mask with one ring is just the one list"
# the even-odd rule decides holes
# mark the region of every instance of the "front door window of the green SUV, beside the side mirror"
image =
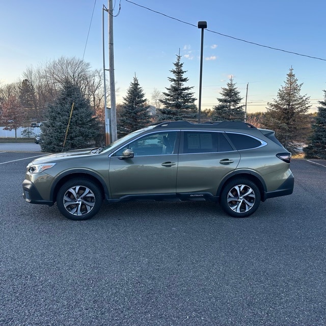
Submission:
[[114,156],[121,156],[125,149],[131,149],[134,156],[173,154],[177,140],[176,131],[151,133],[119,149]]

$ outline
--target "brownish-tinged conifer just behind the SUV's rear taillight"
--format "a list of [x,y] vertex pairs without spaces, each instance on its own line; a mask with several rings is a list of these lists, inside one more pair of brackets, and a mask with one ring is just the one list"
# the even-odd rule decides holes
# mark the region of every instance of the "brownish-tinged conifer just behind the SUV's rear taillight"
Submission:
[[308,119],[306,113],[310,108],[310,97],[301,95],[301,86],[289,69],[285,85],[279,89],[273,103],[267,103],[265,126],[275,130],[280,143],[291,153],[296,153],[295,142],[302,141],[307,130]]

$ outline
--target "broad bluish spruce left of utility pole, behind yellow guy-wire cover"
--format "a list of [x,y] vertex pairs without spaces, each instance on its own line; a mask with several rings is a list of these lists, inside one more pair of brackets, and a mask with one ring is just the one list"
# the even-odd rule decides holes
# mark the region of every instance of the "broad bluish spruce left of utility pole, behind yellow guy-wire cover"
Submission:
[[94,146],[99,137],[99,123],[93,114],[79,87],[66,81],[58,98],[46,108],[47,121],[41,127],[42,151],[61,152]]

